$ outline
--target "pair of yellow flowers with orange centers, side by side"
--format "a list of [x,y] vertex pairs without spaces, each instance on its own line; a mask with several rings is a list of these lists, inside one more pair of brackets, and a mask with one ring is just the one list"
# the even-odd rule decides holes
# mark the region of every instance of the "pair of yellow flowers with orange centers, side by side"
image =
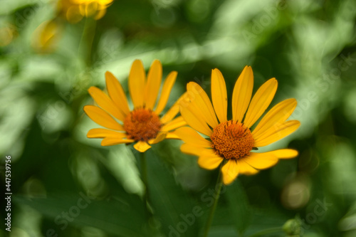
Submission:
[[[278,83],[275,78],[267,80],[251,99],[253,73],[250,66],[246,66],[236,80],[232,120],[227,118],[226,85],[218,69],[211,73],[211,100],[201,86],[191,82],[187,84],[187,92],[162,116],[177,72],[167,75],[157,101],[162,64],[155,60],[146,77],[141,60],[135,60],[128,79],[133,110],[130,110],[125,92],[115,76],[107,72],[105,78],[108,95],[91,87],[88,91],[99,107],[84,107],[90,119],[106,127],[92,129],[87,135],[103,138],[103,146],[135,142],[135,149],[145,152],[151,144],[163,139],[182,139],[182,152],[199,157],[200,167],[216,169],[224,162],[221,167],[224,184],[230,184],[239,174],[256,174],[260,169],[272,167],[278,159],[298,155],[294,149],[252,152],[290,135],[298,129],[300,122],[286,121],[297,102],[295,99],[283,100],[272,107],[251,132],[251,127],[270,105]],[[176,117],[179,112],[181,115]]]

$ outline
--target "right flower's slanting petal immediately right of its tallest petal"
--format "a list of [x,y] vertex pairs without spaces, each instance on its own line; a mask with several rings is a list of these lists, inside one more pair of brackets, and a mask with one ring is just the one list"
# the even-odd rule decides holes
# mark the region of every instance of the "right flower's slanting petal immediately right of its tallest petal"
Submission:
[[251,127],[259,117],[265,112],[268,105],[271,103],[274,94],[277,90],[277,80],[271,78],[267,80],[266,83],[263,83],[260,88],[258,88],[255,95],[251,100],[250,106],[246,112],[246,117],[244,120],[244,125],[246,127]]

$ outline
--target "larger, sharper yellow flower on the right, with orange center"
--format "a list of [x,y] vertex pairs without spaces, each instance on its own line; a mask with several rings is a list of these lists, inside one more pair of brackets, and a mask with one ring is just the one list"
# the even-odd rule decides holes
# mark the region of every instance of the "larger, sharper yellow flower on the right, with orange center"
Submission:
[[[224,162],[221,168],[224,184],[230,184],[239,174],[256,174],[259,169],[272,167],[278,159],[298,155],[294,149],[252,152],[290,135],[300,125],[297,120],[286,121],[297,105],[295,99],[288,99],[269,110],[251,132],[251,126],[270,105],[277,90],[277,80],[266,81],[251,100],[252,88],[252,68],[246,66],[234,87],[232,120],[227,120],[225,80],[221,72],[214,69],[211,73],[212,105],[197,83],[187,84],[187,98],[179,105],[182,117],[194,129],[181,127],[174,132],[185,142],[182,152],[198,156],[198,164],[204,169],[215,169]],[[204,139],[195,130],[209,139]]]

